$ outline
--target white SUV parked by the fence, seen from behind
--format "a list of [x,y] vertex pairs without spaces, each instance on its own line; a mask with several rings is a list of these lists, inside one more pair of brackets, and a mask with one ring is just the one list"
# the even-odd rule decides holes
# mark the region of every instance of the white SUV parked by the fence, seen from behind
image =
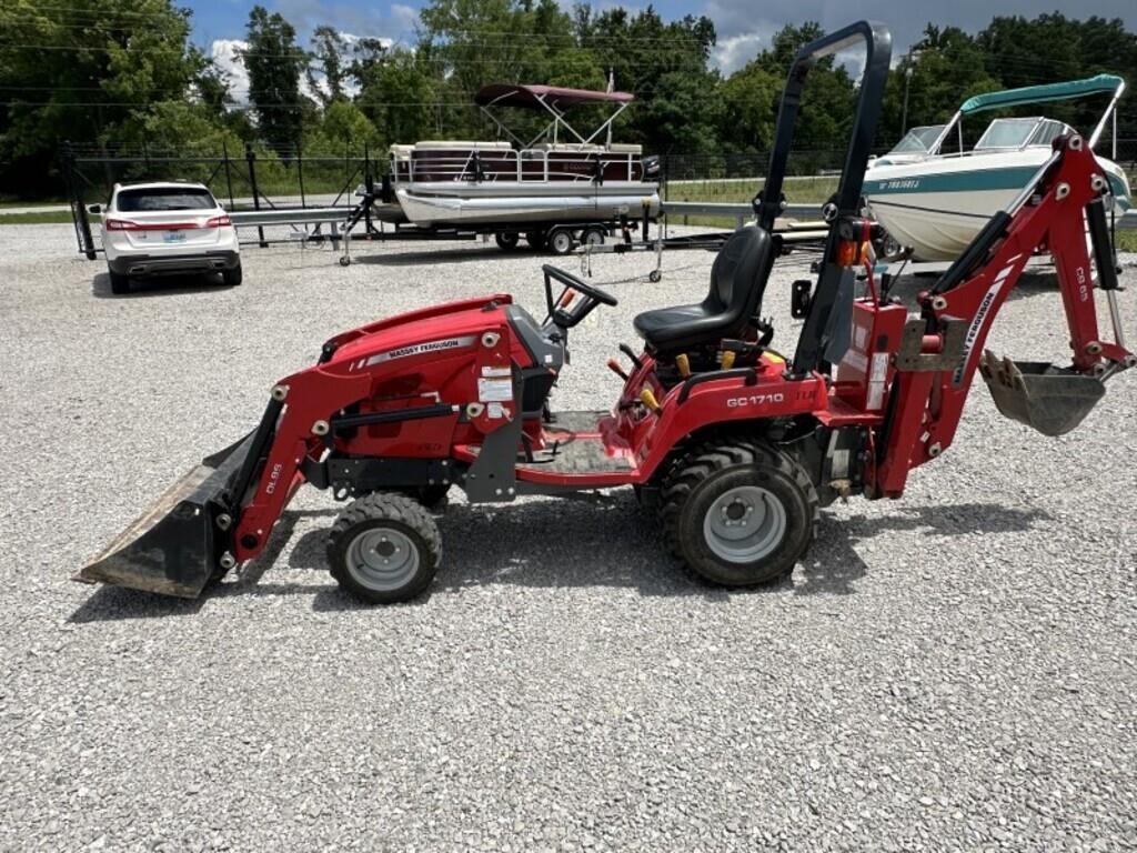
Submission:
[[199,183],[115,184],[102,212],[102,248],[113,293],[130,292],[132,276],[171,273],[219,272],[226,284],[241,283],[236,230]]

